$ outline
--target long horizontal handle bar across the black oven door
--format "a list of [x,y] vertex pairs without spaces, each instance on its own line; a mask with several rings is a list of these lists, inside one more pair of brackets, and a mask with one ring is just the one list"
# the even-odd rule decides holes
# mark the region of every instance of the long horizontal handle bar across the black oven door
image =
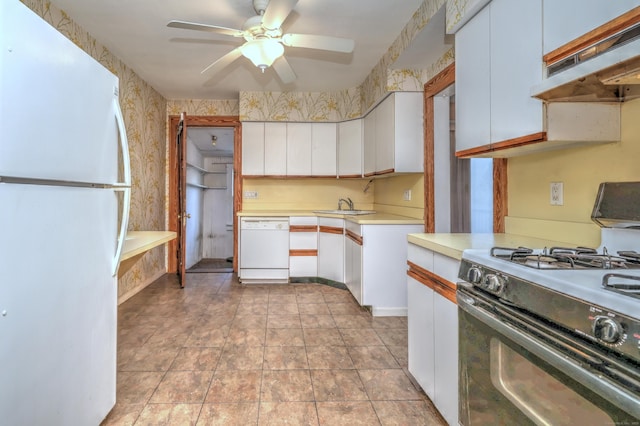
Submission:
[[477,320],[483,322],[503,336],[522,346],[543,361],[562,371],[573,380],[596,392],[618,408],[640,418],[640,404],[636,396],[624,391],[603,377],[591,373],[579,363],[567,358],[564,354],[549,346],[544,341],[529,336],[496,315],[475,305],[475,300],[458,291],[458,307]]

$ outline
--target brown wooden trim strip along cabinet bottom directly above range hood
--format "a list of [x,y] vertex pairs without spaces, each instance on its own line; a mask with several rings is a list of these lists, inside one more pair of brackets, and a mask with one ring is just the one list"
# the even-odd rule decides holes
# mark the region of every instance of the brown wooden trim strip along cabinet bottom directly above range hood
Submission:
[[595,43],[598,43],[615,33],[624,30],[640,22],[640,6],[631,9],[627,13],[618,16],[611,21],[600,25],[588,33],[552,50],[542,57],[547,66],[574,55]]

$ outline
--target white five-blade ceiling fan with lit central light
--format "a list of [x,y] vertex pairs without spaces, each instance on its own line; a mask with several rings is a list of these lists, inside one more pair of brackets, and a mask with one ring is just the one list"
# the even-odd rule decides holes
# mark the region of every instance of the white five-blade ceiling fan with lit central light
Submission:
[[215,74],[240,56],[245,56],[262,72],[273,65],[280,80],[287,84],[296,79],[296,74],[283,56],[284,46],[351,53],[355,44],[353,40],[339,37],[283,34],[281,25],[296,3],[298,0],[253,0],[257,15],[247,19],[241,30],[186,21],[169,21],[167,26],[242,37],[246,40],[242,46],[202,70],[202,74]]

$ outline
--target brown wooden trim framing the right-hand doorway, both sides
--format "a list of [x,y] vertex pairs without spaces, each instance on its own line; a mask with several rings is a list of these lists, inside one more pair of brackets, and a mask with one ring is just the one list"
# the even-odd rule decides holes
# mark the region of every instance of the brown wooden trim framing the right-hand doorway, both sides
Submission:
[[[424,85],[424,232],[435,232],[433,98],[455,84],[455,62]],[[493,159],[493,232],[504,233],[507,216],[507,159]]]

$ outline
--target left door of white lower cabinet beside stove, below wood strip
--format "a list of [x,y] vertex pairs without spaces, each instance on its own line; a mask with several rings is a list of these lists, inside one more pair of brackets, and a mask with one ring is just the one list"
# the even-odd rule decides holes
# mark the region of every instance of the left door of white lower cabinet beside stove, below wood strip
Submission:
[[435,395],[433,295],[432,289],[407,277],[409,372],[432,400]]

